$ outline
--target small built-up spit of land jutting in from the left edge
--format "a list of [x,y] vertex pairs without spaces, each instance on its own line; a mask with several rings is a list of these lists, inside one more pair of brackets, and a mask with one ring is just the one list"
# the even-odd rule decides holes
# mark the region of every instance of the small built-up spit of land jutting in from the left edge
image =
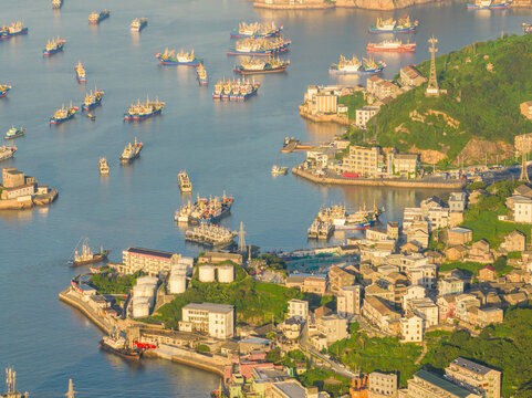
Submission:
[[49,205],[58,195],[58,190],[39,185],[35,177],[25,176],[14,167],[2,169],[0,210],[21,210]]

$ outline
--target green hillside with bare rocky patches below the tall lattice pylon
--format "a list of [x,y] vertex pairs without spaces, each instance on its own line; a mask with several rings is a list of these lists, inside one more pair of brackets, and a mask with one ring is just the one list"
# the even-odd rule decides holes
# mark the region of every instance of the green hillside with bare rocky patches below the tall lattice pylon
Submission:
[[[426,61],[418,69],[428,76],[429,66]],[[532,100],[532,35],[473,43],[438,56],[436,67],[447,94],[427,97],[425,83],[392,101],[375,116],[380,145],[438,150],[453,160],[472,138],[513,145],[515,135],[532,132],[519,106]],[[471,147],[466,158],[483,160],[486,148],[476,154],[477,146]],[[488,153],[513,155],[501,145]]]

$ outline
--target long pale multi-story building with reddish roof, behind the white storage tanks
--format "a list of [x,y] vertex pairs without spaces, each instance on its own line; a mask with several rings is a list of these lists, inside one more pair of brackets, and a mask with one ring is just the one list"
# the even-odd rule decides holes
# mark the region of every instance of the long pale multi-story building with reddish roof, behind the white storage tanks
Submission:
[[160,250],[128,248],[122,252],[122,264],[113,264],[113,266],[124,274],[143,271],[156,276],[160,272],[170,272],[171,266],[177,264],[180,258],[181,254]]

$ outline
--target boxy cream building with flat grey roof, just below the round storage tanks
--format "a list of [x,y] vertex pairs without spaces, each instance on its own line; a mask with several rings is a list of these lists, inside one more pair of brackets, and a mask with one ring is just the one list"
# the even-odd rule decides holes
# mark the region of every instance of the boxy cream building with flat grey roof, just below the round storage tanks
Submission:
[[182,307],[184,329],[207,333],[216,338],[229,338],[234,335],[234,307],[227,304],[190,303]]

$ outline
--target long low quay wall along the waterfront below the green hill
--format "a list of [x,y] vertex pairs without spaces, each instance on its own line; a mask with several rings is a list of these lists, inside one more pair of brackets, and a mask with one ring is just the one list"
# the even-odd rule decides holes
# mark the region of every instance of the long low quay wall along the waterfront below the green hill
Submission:
[[345,186],[368,186],[368,187],[394,187],[394,188],[432,188],[432,189],[461,189],[461,180],[398,180],[398,179],[366,179],[366,178],[335,178],[320,177],[299,167],[292,168],[294,176],[302,177],[316,184],[332,184]]

